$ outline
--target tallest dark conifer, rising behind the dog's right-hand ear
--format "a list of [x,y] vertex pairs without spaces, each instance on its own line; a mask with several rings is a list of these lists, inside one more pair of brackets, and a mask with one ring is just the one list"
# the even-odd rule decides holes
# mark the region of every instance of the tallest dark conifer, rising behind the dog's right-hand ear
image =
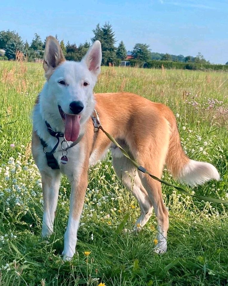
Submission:
[[93,30],[94,37],[91,38],[92,42],[99,40],[101,42],[102,50],[102,64],[106,65],[109,62],[113,63],[116,58],[116,38],[115,32],[112,30],[112,25],[105,22],[105,24],[100,27],[97,24],[96,29]]

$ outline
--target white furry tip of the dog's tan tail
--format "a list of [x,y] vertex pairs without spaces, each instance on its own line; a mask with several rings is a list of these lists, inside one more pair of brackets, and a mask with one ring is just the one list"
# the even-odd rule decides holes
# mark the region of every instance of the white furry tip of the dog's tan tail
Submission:
[[178,176],[180,183],[190,186],[201,185],[212,179],[219,180],[220,176],[216,168],[209,163],[190,160]]

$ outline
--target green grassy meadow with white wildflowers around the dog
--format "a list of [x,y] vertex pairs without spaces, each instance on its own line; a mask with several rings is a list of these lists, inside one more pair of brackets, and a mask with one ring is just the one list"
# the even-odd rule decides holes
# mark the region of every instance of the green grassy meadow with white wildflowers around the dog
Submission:
[[[129,91],[168,105],[188,156],[211,162],[221,174],[219,182],[184,187],[228,200],[227,78],[220,72],[103,67],[95,92]],[[54,234],[41,238],[41,180],[30,142],[31,111],[43,83],[41,64],[0,62],[0,286],[228,285],[227,205],[163,186],[168,251],[156,255],[156,218],[140,233],[131,232],[140,209],[117,179],[110,154],[89,172],[73,260],[61,258],[69,211],[66,178]],[[175,182],[166,170],[163,177]]]

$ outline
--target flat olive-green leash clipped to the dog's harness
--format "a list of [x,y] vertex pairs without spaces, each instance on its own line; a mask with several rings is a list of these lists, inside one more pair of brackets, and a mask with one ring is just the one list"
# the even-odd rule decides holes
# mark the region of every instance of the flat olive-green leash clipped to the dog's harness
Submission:
[[96,111],[96,109],[94,109],[96,117],[92,117],[93,122],[95,121],[94,124],[94,132],[97,132],[99,129],[102,130],[102,132],[105,133],[105,135],[111,140],[112,143],[114,143],[117,147],[120,148],[120,151],[123,153],[123,155],[128,158],[128,160],[131,161],[131,163],[137,168],[137,170],[149,175],[151,178],[153,178],[156,181],[159,181],[160,183],[166,185],[166,186],[170,186],[175,188],[178,192],[181,192],[185,195],[197,198],[199,200],[205,200],[207,202],[212,202],[212,203],[223,203],[223,204],[228,204],[227,200],[221,200],[221,199],[216,199],[216,198],[211,198],[211,197],[205,197],[205,196],[198,196],[198,195],[192,195],[189,192],[187,192],[185,189],[172,185],[166,181],[160,180],[159,178],[155,177],[154,175],[152,175],[150,172],[148,172],[143,166],[141,166],[140,164],[138,164],[135,160],[131,159],[130,156],[128,155],[128,153],[120,146],[120,144],[108,133],[104,130],[104,128],[102,127],[101,123],[100,123],[100,119],[98,116],[98,113]]

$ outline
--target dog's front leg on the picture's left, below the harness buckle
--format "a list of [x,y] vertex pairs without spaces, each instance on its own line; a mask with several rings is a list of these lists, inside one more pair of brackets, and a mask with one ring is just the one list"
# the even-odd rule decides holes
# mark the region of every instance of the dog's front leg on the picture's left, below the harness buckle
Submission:
[[50,172],[41,172],[41,176],[44,200],[42,237],[48,237],[53,233],[61,175],[59,170],[51,170],[50,168]]

